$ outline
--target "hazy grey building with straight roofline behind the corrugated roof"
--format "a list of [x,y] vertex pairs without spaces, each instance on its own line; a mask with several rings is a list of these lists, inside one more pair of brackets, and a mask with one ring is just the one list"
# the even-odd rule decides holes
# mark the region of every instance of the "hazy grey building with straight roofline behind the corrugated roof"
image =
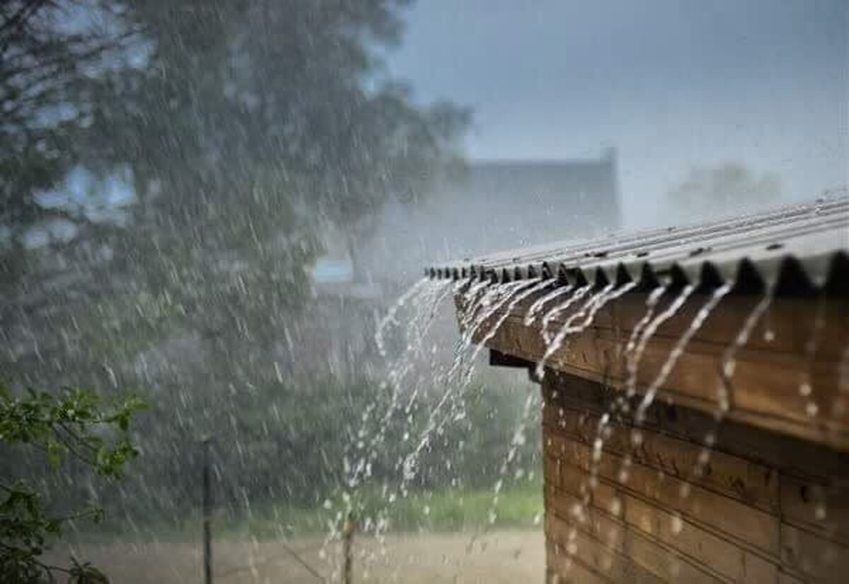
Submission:
[[619,224],[615,149],[588,160],[473,160],[421,204],[387,205],[363,265],[373,279],[408,280],[418,274],[399,270],[486,250],[585,239]]

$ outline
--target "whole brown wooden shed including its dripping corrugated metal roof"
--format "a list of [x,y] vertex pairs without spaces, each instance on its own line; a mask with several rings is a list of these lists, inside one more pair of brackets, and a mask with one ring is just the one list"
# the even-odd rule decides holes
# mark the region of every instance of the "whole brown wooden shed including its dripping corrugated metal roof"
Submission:
[[548,581],[849,581],[847,250],[839,197],[427,270],[541,382]]

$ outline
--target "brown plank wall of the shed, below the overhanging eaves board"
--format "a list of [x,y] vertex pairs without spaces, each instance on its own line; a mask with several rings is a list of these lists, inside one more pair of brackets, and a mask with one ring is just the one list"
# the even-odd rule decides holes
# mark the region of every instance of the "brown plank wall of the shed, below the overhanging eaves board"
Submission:
[[545,375],[549,582],[849,582],[846,454],[726,423],[696,478],[716,423],[659,403],[639,446],[625,418],[614,419],[590,489],[599,417],[615,395]]

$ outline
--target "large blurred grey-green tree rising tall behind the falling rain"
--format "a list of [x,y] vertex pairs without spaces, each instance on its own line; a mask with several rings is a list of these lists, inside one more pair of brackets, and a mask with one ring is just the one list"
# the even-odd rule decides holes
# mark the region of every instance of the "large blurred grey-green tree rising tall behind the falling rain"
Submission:
[[[55,269],[31,270],[6,295],[0,374],[17,385],[150,387],[145,435],[160,441],[150,477],[173,470],[183,483],[172,491],[188,491],[186,441],[214,430],[228,460],[253,464],[231,471],[258,485],[259,464],[234,446],[286,440],[261,419],[273,397],[294,408],[304,401],[293,387],[325,403],[347,389],[292,379],[279,350],[309,319],[306,268],[321,230],[368,237],[381,205],[424,196],[458,161],[468,112],[416,104],[380,65],[407,4],[104,0],[115,14],[104,33],[133,31],[133,59],[111,53],[98,75],[76,78],[68,98],[87,115],[69,128],[73,155],[51,180],[72,168],[93,183],[120,174],[132,202],[122,222],[92,220],[49,254],[32,250]],[[146,359],[160,349],[178,367],[148,378]],[[305,418],[324,413],[284,419],[326,428]],[[314,443],[284,446],[297,460]],[[312,494],[300,483],[299,497]]]

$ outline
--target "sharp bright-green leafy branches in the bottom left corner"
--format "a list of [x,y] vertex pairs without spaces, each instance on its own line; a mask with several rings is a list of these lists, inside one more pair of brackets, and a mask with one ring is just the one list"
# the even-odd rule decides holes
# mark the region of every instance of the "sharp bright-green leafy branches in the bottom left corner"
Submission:
[[[96,474],[120,479],[127,463],[138,454],[128,433],[133,414],[142,408],[143,403],[135,398],[104,408],[96,394],[84,390],[65,388],[58,396],[28,390],[25,396],[14,396],[0,385],[0,442],[5,454],[9,446],[42,452],[54,471],[71,457]],[[29,454],[26,458],[31,460]],[[102,508],[89,505],[59,512],[22,478],[9,481],[4,477],[0,491],[0,574],[7,581],[52,581],[54,572],[65,573],[70,582],[81,584],[106,581],[96,568],[76,559],[69,568],[41,559],[68,522],[100,521]]]

